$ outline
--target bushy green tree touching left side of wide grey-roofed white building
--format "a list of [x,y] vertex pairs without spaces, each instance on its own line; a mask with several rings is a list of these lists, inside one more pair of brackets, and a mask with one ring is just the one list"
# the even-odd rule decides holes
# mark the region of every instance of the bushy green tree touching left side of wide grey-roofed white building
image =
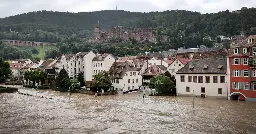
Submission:
[[158,75],[150,79],[149,87],[156,89],[157,95],[171,95],[175,85],[169,77]]

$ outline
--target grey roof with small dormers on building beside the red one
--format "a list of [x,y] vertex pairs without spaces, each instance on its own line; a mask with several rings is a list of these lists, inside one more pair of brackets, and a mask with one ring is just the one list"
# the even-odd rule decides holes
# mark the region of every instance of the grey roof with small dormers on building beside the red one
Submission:
[[226,74],[226,58],[207,58],[190,61],[177,74]]

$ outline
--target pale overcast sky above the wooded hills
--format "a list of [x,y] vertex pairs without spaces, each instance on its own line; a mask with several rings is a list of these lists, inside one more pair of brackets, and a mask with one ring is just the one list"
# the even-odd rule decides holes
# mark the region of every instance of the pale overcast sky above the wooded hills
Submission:
[[256,0],[0,0],[0,18],[39,10],[87,12],[113,10],[150,12],[190,10],[212,13],[256,7]]

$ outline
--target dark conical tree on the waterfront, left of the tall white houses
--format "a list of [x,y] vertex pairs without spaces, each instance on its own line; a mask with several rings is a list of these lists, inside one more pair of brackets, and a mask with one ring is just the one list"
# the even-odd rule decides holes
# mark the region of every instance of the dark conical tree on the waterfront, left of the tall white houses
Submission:
[[57,90],[61,92],[67,92],[71,86],[68,73],[65,69],[61,69],[59,75],[56,78]]

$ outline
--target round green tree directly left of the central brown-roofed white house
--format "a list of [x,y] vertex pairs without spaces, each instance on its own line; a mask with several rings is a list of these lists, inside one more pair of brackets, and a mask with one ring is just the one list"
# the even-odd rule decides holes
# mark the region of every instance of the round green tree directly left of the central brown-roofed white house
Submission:
[[94,79],[92,80],[92,87],[96,89],[96,91],[101,91],[101,89],[108,91],[112,87],[109,73],[103,71],[94,75]]

